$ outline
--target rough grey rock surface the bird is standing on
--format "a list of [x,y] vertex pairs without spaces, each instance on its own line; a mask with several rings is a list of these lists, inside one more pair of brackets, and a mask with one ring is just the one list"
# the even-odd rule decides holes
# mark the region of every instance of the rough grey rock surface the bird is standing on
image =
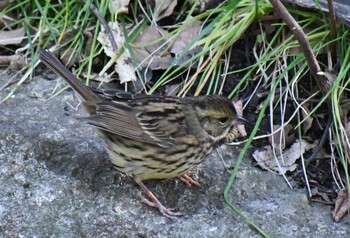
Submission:
[[[51,98],[58,82],[34,77],[0,105],[0,237],[259,237],[225,204],[230,174],[216,152],[199,167],[201,188],[176,179],[147,182],[185,216],[169,220],[142,204],[139,187],[113,169],[93,130],[76,120],[83,113],[73,109],[73,92]],[[232,165],[239,148],[219,151]],[[310,203],[305,190],[290,190],[251,158],[230,200],[272,237],[350,234],[348,218],[334,223],[330,206]]]

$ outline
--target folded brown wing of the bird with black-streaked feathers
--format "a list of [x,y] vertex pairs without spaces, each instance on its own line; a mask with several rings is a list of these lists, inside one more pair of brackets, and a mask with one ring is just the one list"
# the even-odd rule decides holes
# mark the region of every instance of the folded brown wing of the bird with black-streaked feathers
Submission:
[[101,130],[162,147],[170,147],[174,138],[187,135],[182,104],[170,97],[100,102],[96,114],[84,120]]

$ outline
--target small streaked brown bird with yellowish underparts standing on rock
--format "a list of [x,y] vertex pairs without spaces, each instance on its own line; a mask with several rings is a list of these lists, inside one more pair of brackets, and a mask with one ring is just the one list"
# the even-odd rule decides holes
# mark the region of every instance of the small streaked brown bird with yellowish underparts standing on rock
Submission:
[[63,77],[78,94],[89,115],[83,118],[106,143],[114,167],[131,174],[150,200],[168,218],[182,213],[166,208],[143,183],[148,179],[179,177],[198,183],[186,174],[220,143],[240,136],[245,122],[222,96],[178,98],[132,95],[84,85],[50,51],[40,50],[40,60]]

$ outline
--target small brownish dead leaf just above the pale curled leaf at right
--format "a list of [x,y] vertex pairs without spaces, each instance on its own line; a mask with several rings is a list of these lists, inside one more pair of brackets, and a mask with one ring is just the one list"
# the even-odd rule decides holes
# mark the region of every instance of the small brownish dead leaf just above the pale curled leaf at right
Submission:
[[293,129],[290,124],[285,124],[281,130],[279,129],[281,129],[280,125],[273,126],[273,131],[277,132],[269,137],[269,142],[284,149],[295,141],[295,135],[290,133]]

